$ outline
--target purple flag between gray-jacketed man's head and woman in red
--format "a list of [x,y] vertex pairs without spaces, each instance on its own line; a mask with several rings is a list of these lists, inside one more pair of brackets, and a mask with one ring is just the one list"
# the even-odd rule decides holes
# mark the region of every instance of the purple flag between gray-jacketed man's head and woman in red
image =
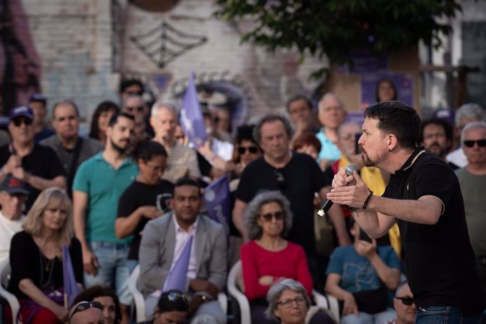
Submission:
[[204,207],[209,217],[223,225],[230,235],[231,196],[228,175],[223,175],[204,189]]

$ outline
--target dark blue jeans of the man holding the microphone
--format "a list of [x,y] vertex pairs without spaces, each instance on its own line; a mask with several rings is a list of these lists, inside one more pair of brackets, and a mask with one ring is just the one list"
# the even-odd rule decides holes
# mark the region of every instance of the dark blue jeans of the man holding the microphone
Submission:
[[417,307],[415,323],[418,324],[479,324],[481,323],[482,311],[467,315],[455,306],[424,306]]

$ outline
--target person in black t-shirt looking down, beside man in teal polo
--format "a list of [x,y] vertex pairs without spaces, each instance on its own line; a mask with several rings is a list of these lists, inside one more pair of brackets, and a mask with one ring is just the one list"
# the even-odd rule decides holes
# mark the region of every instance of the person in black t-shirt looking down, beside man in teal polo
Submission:
[[140,173],[121,195],[115,223],[118,238],[135,235],[128,252],[129,268],[135,268],[137,264],[145,225],[168,211],[174,191],[171,182],[161,180],[167,161],[167,152],[161,144],[153,141],[139,144],[133,156]]

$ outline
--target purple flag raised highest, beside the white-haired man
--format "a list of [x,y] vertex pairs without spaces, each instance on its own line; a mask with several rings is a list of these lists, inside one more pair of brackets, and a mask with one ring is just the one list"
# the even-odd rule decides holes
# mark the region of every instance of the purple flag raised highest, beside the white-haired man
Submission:
[[197,99],[196,87],[194,86],[193,73],[189,77],[189,84],[187,85],[184,102],[180,110],[180,125],[194,148],[198,149],[208,139],[201,106],[199,106],[199,100]]

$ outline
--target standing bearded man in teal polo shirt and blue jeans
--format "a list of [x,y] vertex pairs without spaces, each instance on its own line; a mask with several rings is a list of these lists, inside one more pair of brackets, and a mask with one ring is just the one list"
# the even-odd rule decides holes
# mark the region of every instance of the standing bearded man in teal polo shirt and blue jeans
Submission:
[[118,239],[114,224],[118,200],[138,175],[137,165],[126,155],[134,128],[133,116],[113,115],[104,151],[81,164],[73,183],[74,227],[82,247],[85,285],[115,285],[122,323],[128,323],[132,302],[127,266],[132,236]]

